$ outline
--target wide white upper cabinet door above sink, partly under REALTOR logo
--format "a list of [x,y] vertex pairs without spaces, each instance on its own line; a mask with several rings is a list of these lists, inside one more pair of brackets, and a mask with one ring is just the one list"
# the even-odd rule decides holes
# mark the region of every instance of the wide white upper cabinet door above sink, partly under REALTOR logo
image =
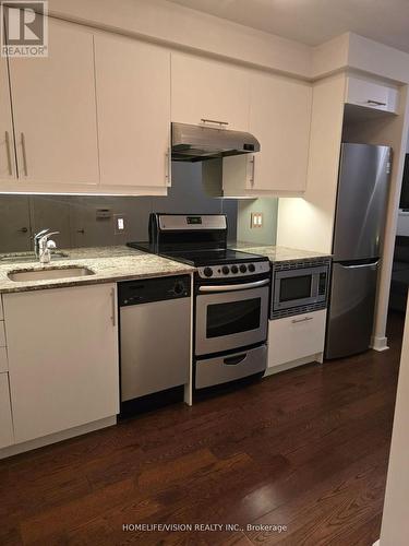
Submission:
[[9,62],[19,178],[52,192],[99,173],[93,35],[53,19],[48,27],[49,57]]

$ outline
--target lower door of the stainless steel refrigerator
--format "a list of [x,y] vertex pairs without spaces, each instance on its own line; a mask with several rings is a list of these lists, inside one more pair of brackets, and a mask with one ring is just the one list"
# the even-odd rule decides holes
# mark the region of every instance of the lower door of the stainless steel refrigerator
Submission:
[[334,263],[325,358],[362,353],[371,342],[378,263]]

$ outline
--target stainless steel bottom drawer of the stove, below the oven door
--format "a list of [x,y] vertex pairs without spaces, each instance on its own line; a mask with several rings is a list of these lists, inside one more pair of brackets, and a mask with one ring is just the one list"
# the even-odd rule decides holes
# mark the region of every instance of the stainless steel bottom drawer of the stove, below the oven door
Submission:
[[195,388],[204,389],[265,371],[267,346],[240,351],[229,356],[196,360]]

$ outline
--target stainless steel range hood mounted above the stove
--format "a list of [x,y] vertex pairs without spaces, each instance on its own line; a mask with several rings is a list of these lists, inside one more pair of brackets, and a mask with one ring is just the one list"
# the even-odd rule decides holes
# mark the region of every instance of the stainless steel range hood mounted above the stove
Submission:
[[172,123],[173,161],[203,162],[255,152],[260,152],[260,142],[250,133],[224,127]]

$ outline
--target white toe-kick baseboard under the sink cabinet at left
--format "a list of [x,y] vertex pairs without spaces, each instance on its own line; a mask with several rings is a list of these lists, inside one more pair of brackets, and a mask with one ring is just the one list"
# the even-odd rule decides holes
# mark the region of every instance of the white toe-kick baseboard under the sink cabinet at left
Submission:
[[116,424],[117,416],[112,415],[112,417],[94,420],[93,423],[87,423],[86,425],[81,425],[80,427],[70,428],[69,430],[62,430],[61,432],[44,436],[43,438],[36,438],[35,440],[29,440],[27,442],[9,446],[8,448],[0,449],[0,459],[17,455],[19,453],[24,453],[25,451],[31,451],[33,449],[44,448],[45,446],[49,446],[50,443],[57,443],[62,440],[68,440],[69,438],[74,438],[75,436],[94,432],[95,430],[111,427]]

